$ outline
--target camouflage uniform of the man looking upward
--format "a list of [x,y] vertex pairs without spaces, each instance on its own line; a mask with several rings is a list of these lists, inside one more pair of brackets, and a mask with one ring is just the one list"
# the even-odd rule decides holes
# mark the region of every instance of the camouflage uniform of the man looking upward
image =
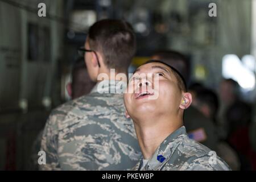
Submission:
[[230,170],[229,166],[218,156],[217,160],[211,160],[212,154],[209,155],[209,152],[209,148],[189,139],[183,126],[160,144],[144,168],[141,169],[141,160],[133,169],[142,171]]

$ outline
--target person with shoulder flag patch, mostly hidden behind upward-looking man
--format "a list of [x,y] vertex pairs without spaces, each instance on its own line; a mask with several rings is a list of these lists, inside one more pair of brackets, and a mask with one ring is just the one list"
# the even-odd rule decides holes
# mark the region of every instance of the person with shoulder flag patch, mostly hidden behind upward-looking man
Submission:
[[[152,59],[162,60],[171,65],[180,72],[185,81],[190,81],[190,62],[183,54],[171,50],[155,52]],[[199,85],[200,86],[200,85]],[[216,127],[205,117],[195,106],[190,106],[184,114],[184,126],[187,129],[189,137],[204,144],[212,150],[217,147]]]

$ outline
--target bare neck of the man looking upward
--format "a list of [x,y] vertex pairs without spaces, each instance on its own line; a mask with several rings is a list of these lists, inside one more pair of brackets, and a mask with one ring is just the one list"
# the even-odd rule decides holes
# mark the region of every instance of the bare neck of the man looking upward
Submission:
[[143,157],[150,159],[163,140],[183,126],[183,121],[178,117],[148,117],[134,120],[134,126]]

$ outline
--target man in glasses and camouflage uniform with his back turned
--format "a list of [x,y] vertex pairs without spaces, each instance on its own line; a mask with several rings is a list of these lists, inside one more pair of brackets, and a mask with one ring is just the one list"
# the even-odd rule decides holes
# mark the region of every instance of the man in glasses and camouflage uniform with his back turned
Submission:
[[[127,74],[135,44],[133,29],[123,20],[100,20],[89,28],[79,51],[97,84],[87,96],[57,107],[49,116],[41,147],[47,164],[41,169],[126,170],[135,165],[141,152],[133,122],[123,114],[123,94],[109,92],[122,82],[116,75]],[[100,75],[105,77],[98,79]]]

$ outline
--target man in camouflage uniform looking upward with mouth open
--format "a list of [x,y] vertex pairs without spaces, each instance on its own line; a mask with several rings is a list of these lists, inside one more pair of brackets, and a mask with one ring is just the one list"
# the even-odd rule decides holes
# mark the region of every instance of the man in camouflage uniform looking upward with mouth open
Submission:
[[143,154],[134,170],[230,170],[214,151],[188,138],[183,114],[192,96],[175,68],[147,61],[130,78],[124,101]]

